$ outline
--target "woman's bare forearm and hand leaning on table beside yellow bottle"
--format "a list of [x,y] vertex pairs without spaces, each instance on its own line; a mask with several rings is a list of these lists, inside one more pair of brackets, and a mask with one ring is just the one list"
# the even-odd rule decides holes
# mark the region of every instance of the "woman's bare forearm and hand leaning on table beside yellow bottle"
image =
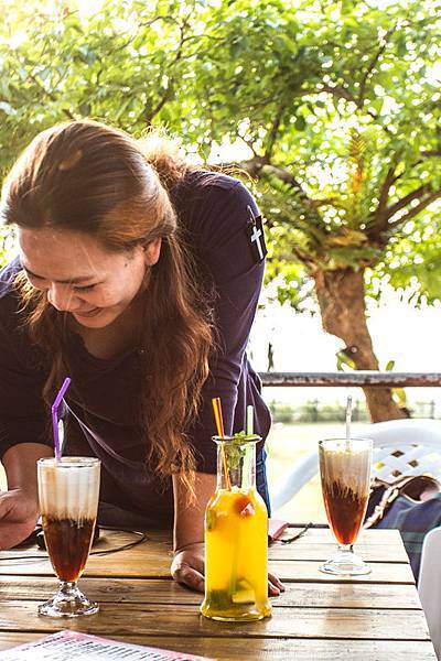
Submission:
[[197,592],[204,590],[204,513],[216,489],[216,476],[196,473],[196,499],[189,503],[189,491],[173,476],[174,530],[172,576]]

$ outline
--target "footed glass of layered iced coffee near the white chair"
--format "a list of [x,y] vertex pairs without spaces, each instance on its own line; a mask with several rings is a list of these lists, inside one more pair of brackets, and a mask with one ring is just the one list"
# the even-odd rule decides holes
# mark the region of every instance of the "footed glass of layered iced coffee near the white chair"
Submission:
[[327,574],[370,572],[353,545],[363,524],[370,486],[373,442],[369,438],[330,438],[319,442],[320,475],[327,520],[338,543],[334,557],[320,568]]

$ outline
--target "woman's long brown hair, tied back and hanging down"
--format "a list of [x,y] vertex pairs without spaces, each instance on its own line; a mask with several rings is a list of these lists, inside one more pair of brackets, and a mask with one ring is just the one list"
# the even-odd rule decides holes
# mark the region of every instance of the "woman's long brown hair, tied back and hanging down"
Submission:
[[[2,215],[23,228],[86,232],[112,251],[162,239],[142,293],[142,345],[154,350],[146,353],[140,426],[158,476],[179,473],[192,491],[195,459],[185,431],[197,415],[213,334],[168,193],[185,172],[185,162],[154,133],[140,144],[94,121],[58,124],[40,133],[13,166]],[[50,403],[66,373],[64,315],[23,278],[20,295],[32,339],[51,356],[43,391]]]

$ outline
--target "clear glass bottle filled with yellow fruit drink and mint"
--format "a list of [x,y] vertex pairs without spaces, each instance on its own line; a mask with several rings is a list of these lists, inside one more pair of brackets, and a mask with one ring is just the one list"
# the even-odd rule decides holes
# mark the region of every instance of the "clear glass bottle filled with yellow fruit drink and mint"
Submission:
[[217,487],[205,513],[205,599],[201,613],[226,621],[271,614],[268,513],[256,489],[260,436],[214,436]]

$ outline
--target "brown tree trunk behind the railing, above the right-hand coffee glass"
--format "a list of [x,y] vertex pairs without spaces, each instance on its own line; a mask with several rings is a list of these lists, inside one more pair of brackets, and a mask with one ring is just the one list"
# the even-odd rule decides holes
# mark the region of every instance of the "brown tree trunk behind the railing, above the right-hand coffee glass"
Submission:
[[[364,269],[316,270],[315,293],[326,333],[336,335],[351,348],[356,369],[378,370],[366,324]],[[406,418],[388,388],[364,388],[373,422]]]

